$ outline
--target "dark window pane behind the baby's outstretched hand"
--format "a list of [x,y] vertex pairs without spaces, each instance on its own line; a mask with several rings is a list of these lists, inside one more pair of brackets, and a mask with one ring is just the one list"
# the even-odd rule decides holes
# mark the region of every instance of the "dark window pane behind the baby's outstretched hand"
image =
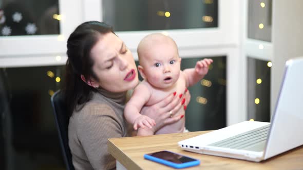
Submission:
[[[186,109],[185,127],[189,131],[216,130],[226,127],[226,57],[207,57],[214,62],[195,86],[188,88],[191,102]],[[181,69],[195,66],[203,58],[182,59]]]

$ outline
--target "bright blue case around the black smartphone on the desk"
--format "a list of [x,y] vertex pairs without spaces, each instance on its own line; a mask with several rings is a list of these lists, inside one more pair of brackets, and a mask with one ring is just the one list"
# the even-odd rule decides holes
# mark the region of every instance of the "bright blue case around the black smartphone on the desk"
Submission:
[[[167,151],[167,152],[170,152],[170,151]],[[174,152],[171,152],[171,153],[174,153]],[[177,154],[177,153],[174,153],[174,154]],[[181,154],[177,154],[177,155],[181,155]],[[185,156],[185,155],[181,155],[181,156],[188,157],[188,156]],[[192,158],[192,159],[195,159],[194,161],[185,162],[185,163],[174,163],[174,162],[170,162],[170,161],[167,161],[167,160],[164,160],[164,159],[156,158],[154,156],[150,156],[150,155],[147,155],[147,154],[144,155],[144,158],[148,159],[148,160],[151,160],[151,161],[154,161],[154,162],[158,162],[158,163],[167,165],[167,166],[171,166],[171,167],[174,167],[174,168],[191,167],[191,166],[196,166],[196,165],[200,164],[200,160],[197,160],[195,158]],[[188,158],[191,158],[191,157],[188,157]]]

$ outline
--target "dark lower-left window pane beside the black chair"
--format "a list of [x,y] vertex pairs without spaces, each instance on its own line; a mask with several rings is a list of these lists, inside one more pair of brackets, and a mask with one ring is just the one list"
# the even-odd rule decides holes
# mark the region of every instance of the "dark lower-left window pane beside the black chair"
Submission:
[[0,69],[2,169],[65,167],[50,103],[63,74],[62,66]]

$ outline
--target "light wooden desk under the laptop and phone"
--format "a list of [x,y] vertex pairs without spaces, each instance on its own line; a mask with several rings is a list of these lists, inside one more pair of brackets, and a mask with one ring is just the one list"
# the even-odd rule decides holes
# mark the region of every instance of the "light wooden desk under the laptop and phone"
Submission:
[[[178,141],[210,131],[176,133],[154,136],[139,136],[108,139],[108,152],[127,169],[174,169],[156,162],[145,160],[143,155],[168,150],[187,155],[201,161],[199,166],[185,169],[303,169],[303,146],[277,155],[259,163],[202,155],[183,151]],[[285,143],[286,144],[286,143]]]

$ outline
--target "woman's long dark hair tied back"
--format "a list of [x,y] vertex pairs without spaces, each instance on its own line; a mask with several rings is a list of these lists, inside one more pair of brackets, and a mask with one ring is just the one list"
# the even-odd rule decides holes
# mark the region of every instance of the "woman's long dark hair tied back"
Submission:
[[88,86],[86,81],[90,78],[99,80],[92,70],[93,60],[90,57],[92,47],[97,43],[100,36],[112,32],[112,28],[101,22],[90,21],[79,25],[67,40],[67,61],[65,87],[63,93],[67,105],[67,112],[71,116],[74,110],[79,111],[84,104],[91,99],[93,87]]

